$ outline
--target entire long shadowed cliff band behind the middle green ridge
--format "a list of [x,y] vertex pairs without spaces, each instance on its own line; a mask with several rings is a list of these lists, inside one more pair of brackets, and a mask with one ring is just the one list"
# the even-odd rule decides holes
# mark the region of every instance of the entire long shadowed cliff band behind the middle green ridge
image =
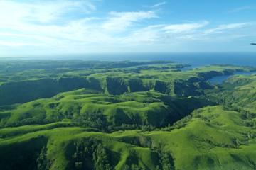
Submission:
[[[196,84],[196,85],[195,85]],[[14,103],[25,103],[38,98],[51,98],[63,91],[75,89],[93,89],[96,91],[107,91],[112,95],[124,94],[126,92],[155,90],[163,94],[176,94],[177,96],[196,96],[201,93],[200,88],[210,88],[208,84],[198,77],[184,81],[160,81],[150,80],[144,83],[142,79],[124,79],[122,77],[107,77],[106,85],[93,77],[90,78],[60,78],[60,79],[38,79],[31,81],[17,81],[5,83],[0,86],[0,105]]]

